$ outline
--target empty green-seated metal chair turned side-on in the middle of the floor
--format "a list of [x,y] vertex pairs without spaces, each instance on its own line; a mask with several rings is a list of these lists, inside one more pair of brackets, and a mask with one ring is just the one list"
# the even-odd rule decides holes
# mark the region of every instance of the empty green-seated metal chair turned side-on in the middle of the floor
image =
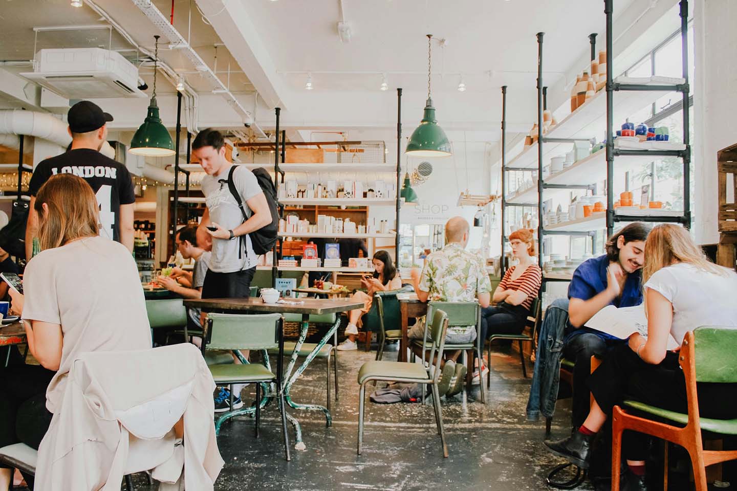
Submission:
[[425,370],[425,366],[419,363],[408,363],[405,361],[368,361],[358,371],[358,384],[360,392],[358,396],[358,455],[361,454],[363,446],[363,406],[366,399],[366,384],[370,381],[405,382],[408,384],[430,385],[433,391],[433,409],[435,410],[435,423],[443,446],[443,456],[448,456],[448,446],[445,442],[445,430],[443,428],[443,414],[440,408],[440,393],[438,381],[440,378],[441,356],[445,344],[445,333],[448,329],[448,317],[444,311],[436,309],[433,314],[431,328],[432,342],[430,345],[430,360],[438,353],[434,365],[433,375]]

